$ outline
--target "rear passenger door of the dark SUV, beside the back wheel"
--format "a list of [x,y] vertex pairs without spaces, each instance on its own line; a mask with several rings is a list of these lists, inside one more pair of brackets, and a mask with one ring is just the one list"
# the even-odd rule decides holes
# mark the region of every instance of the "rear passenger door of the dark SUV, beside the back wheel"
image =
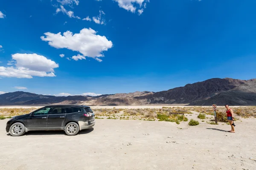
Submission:
[[64,122],[66,118],[65,107],[53,107],[47,120],[48,130],[64,129]]

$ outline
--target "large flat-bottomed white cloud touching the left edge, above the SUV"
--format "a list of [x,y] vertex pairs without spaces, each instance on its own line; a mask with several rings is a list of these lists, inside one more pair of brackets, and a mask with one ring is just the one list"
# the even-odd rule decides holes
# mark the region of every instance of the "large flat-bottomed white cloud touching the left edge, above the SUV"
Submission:
[[55,77],[54,68],[58,68],[54,61],[38,54],[13,54],[12,59],[15,67],[0,67],[0,77]]

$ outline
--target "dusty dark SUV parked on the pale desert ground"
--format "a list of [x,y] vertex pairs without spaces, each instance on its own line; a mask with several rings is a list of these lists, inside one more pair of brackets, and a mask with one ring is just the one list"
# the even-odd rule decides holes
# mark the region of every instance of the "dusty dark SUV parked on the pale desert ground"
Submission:
[[15,116],[6,124],[6,132],[21,136],[30,130],[64,130],[69,136],[95,125],[94,113],[84,105],[49,105],[32,113]]

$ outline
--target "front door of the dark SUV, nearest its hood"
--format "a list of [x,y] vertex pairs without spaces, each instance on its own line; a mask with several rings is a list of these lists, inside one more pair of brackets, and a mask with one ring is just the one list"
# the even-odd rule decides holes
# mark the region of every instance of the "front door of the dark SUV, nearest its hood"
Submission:
[[51,108],[44,107],[35,112],[27,119],[27,127],[32,130],[47,130],[47,118]]

